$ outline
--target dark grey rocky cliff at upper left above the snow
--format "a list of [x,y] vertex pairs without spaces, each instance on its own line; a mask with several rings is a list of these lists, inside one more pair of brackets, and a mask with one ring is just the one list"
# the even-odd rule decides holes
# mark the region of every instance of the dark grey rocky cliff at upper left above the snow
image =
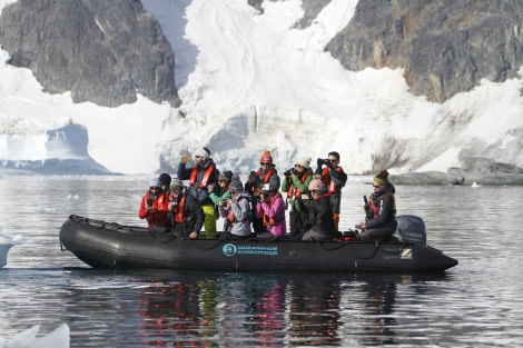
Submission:
[[116,107],[139,92],[179,105],[174,52],[138,0],[19,0],[2,10],[0,42],[9,63],[75,102]]

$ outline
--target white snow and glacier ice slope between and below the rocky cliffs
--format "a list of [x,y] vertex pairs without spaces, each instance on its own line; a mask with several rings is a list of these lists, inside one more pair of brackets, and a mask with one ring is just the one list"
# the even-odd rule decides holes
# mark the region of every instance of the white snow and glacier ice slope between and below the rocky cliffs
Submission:
[[[0,0],[0,9],[10,2]],[[511,132],[523,127],[523,69],[519,79],[484,80],[433,103],[408,92],[402,69],[347,71],[324,51],[357,1],[333,0],[306,29],[294,28],[299,0],[264,1],[263,14],[246,0],[142,3],[175,52],[180,108],[141,96],[118,108],[72,103],[68,92],[45,93],[29,70],[2,63],[9,54],[0,50],[0,159],[77,156],[75,146],[46,150],[45,131],[72,121],[87,128],[90,157],[127,175],[158,172],[160,161],[175,170],[203,146],[219,169],[243,173],[266,149],[280,171],[332,150],[349,173],[387,156],[408,159],[392,173],[446,171],[462,165],[464,149],[482,155],[489,146],[506,148],[500,161],[523,166]]]

